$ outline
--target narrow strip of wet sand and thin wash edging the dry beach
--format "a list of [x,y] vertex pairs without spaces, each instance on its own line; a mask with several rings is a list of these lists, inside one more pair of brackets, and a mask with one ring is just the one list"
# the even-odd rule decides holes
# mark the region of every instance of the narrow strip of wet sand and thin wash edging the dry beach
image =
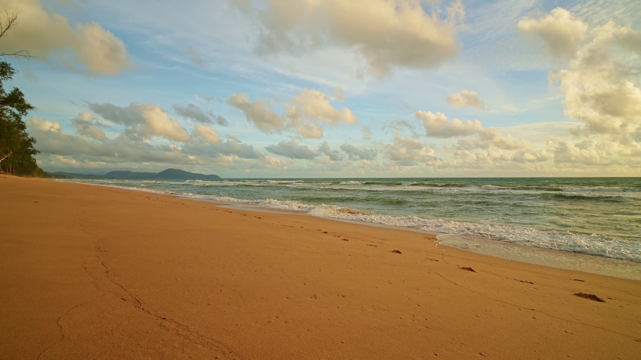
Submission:
[[[421,178],[417,178],[421,179]],[[273,180],[273,179],[271,179]],[[581,252],[574,252],[569,250],[555,250],[547,249],[545,247],[537,247],[532,245],[522,245],[519,243],[511,243],[509,241],[498,241],[485,238],[477,238],[474,236],[466,236],[461,234],[437,233],[435,231],[425,231],[415,227],[403,227],[397,225],[388,225],[378,222],[367,222],[362,220],[351,220],[347,218],[335,217],[321,217],[304,213],[303,211],[287,210],[279,208],[269,208],[267,206],[259,206],[252,204],[243,204],[235,202],[224,202],[220,200],[210,200],[204,197],[187,197],[180,194],[162,193],[154,190],[144,190],[139,188],[126,188],[122,186],[112,186],[108,184],[90,184],[81,183],[79,181],[53,179],[61,183],[77,183],[87,184],[90,186],[104,186],[107,188],[116,188],[132,192],[153,193],[156,195],[166,195],[178,197],[185,200],[196,200],[216,204],[220,208],[237,209],[243,211],[256,211],[265,213],[282,213],[289,215],[304,215],[315,218],[324,218],[328,220],[345,222],[348,224],[360,224],[372,227],[382,227],[385,229],[396,229],[399,231],[412,231],[415,233],[429,234],[437,237],[435,243],[450,248],[460,249],[464,251],[473,252],[475,254],[482,254],[492,256],[498,259],[506,259],[510,261],[519,261],[533,265],[548,266],[552,268],[559,268],[563,270],[574,270],[580,272],[588,272],[590,274],[606,275],[612,277],[620,277],[622,279],[641,280],[641,263],[626,259],[610,258],[608,256],[597,256],[592,254],[584,254]],[[447,240],[439,240],[438,236],[447,238]]]

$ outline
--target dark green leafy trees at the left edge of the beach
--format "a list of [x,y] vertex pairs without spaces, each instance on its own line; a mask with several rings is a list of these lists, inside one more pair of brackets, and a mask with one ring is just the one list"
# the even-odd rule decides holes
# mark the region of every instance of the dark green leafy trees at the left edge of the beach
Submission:
[[18,88],[4,90],[4,82],[15,75],[6,61],[0,61],[0,171],[17,175],[44,176],[33,156],[36,140],[29,136],[22,121],[33,106],[24,99]]

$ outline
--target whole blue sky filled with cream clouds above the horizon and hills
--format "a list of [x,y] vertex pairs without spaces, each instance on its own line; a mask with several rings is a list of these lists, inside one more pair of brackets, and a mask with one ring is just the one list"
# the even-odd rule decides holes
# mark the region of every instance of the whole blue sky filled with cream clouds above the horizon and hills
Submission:
[[641,176],[638,0],[0,9],[49,172]]

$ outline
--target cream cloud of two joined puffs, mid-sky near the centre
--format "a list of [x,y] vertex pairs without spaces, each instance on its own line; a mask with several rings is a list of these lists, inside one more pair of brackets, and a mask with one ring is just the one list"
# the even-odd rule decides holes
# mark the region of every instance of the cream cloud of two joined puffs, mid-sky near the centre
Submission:
[[321,138],[324,124],[353,125],[358,122],[349,108],[338,110],[331,105],[327,95],[306,88],[285,102],[287,111],[283,115],[272,110],[271,102],[267,99],[251,102],[245,94],[234,94],[226,102],[240,109],[246,119],[264,133],[296,131],[304,138]]

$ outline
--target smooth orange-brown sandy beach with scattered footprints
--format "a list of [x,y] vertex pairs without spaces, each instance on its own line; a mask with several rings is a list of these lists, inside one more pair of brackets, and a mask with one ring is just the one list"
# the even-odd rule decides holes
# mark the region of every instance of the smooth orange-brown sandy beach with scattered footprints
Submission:
[[640,281],[428,234],[11,176],[0,220],[0,359],[641,354]]

